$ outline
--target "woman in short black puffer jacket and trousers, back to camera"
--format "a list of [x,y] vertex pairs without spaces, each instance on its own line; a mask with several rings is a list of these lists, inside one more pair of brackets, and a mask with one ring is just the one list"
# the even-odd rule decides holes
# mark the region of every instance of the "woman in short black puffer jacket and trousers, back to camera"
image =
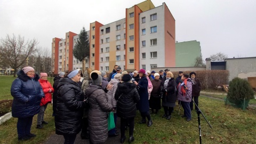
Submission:
[[134,141],[134,117],[136,116],[136,103],[140,96],[136,85],[131,82],[132,77],[126,74],[123,82],[117,84],[115,99],[117,100],[116,114],[121,117],[121,143],[125,140],[125,124],[129,123],[129,142]]

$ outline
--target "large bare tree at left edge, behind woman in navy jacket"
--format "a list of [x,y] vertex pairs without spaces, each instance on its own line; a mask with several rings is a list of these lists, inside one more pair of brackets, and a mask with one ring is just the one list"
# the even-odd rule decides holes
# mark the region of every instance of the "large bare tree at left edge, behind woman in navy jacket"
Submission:
[[26,59],[33,55],[35,46],[38,44],[36,39],[25,41],[20,35],[16,37],[7,35],[5,39],[1,38],[0,54],[1,59],[7,65],[14,69],[14,77],[16,77],[17,69],[26,62]]

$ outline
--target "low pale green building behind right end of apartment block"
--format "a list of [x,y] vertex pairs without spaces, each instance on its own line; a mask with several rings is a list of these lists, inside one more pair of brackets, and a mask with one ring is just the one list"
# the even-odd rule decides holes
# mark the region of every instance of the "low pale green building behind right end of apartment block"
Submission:
[[200,42],[176,42],[175,55],[176,67],[194,67],[196,58],[202,58]]

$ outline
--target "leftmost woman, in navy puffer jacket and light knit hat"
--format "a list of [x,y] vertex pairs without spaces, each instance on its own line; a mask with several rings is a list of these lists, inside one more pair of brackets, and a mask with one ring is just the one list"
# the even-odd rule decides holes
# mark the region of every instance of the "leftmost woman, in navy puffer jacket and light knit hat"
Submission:
[[13,81],[11,87],[12,116],[18,118],[18,140],[28,140],[36,137],[35,134],[30,133],[30,129],[34,115],[39,113],[44,92],[34,68],[22,68],[17,75],[18,78]]

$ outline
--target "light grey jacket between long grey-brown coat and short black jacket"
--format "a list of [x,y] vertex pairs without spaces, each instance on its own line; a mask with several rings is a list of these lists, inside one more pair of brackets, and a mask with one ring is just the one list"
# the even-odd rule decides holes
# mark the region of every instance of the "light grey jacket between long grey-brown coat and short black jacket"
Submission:
[[109,84],[112,85],[112,89],[110,89],[107,92],[108,103],[110,103],[110,105],[112,105],[114,108],[116,108],[116,103],[117,103],[117,100],[115,99],[115,93],[116,93],[118,83],[120,83],[120,81],[118,79],[116,79],[116,78],[111,79]]

